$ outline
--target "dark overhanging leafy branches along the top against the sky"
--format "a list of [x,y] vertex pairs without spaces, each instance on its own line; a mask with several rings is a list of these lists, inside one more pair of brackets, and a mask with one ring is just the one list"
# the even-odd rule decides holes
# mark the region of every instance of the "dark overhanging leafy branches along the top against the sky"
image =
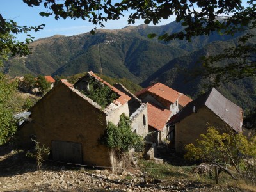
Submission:
[[[190,40],[192,36],[209,35],[213,31],[234,34],[248,26],[250,21],[255,19],[255,6],[253,1],[248,1],[250,7],[244,8],[240,0],[218,0],[218,1],[173,1],[173,0],[153,0],[153,1],[64,1],[56,0],[24,0],[28,6],[39,6],[44,4],[48,8],[40,15],[48,17],[54,15],[55,19],[81,18],[93,24],[104,27],[102,22],[107,20],[118,20],[124,16],[124,12],[132,10],[127,20],[128,24],[133,24],[138,19],[143,19],[145,24],[158,24],[161,19],[168,19],[175,15],[177,22],[182,22],[185,28],[171,35],[164,34],[159,38],[162,40],[173,40],[175,38]],[[99,12],[98,12],[99,11]],[[226,22],[216,20],[222,15]],[[255,22],[253,22],[255,24]],[[224,30],[224,31],[223,31]]]

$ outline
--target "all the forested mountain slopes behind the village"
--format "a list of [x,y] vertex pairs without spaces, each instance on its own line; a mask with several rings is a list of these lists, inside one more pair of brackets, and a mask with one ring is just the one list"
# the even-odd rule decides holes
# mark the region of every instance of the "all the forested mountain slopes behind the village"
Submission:
[[[72,76],[92,70],[98,74],[130,79],[145,87],[160,81],[175,90],[196,97],[207,91],[211,77],[195,77],[200,56],[218,54],[237,44],[236,36],[210,36],[161,42],[149,39],[149,33],[159,35],[179,31],[180,24],[165,26],[127,26],[119,30],[99,29],[95,35],[55,35],[31,44],[32,54],[12,58],[4,63],[4,72],[11,76],[44,74]],[[240,34],[241,35],[241,34]],[[216,65],[222,65],[217,63]],[[217,88],[228,99],[243,109],[255,106],[255,79],[253,77],[223,84]]]

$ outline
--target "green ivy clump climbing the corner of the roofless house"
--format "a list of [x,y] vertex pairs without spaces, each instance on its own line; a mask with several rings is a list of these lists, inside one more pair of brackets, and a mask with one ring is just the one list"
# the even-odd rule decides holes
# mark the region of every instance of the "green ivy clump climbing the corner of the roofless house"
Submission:
[[131,122],[128,116],[123,113],[116,126],[108,122],[108,126],[102,134],[99,143],[117,152],[127,152],[131,148],[141,148],[143,138],[131,131]]

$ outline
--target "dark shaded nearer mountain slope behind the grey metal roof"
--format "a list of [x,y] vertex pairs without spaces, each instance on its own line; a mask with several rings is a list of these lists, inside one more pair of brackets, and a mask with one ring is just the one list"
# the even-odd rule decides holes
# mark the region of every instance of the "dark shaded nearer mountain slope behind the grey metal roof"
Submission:
[[[203,79],[202,77],[193,77],[193,70],[198,66],[200,56],[219,54],[223,49],[236,45],[236,39],[227,42],[212,42],[195,52],[185,56],[180,56],[171,60],[169,63],[159,68],[151,74],[141,86],[148,86],[152,83],[161,82],[171,86],[179,92],[191,95],[196,98],[200,93],[208,90],[207,85],[211,82],[211,77]],[[223,65],[217,63],[216,65]],[[248,77],[232,83],[221,84],[217,89],[232,102],[241,106],[244,110],[252,110],[256,105],[256,79]]]

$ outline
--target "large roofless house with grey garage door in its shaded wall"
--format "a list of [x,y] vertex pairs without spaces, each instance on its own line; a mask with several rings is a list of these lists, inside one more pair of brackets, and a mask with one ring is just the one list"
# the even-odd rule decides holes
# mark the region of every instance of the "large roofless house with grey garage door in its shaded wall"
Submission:
[[[117,98],[102,108],[67,80],[58,81],[29,109],[31,120],[20,126],[19,137],[24,144],[35,137],[36,141],[50,148],[55,161],[113,167],[115,157],[109,154],[108,148],[99,145],[98,140],[109,121],[117,125],[122,113],[129,116],[128,102],[131,97],[92,72],[87,75],[109,86]],[[137,111],[138,114],[146,112],[140,108]],[[140,123],[143,125],[142,118]]]

